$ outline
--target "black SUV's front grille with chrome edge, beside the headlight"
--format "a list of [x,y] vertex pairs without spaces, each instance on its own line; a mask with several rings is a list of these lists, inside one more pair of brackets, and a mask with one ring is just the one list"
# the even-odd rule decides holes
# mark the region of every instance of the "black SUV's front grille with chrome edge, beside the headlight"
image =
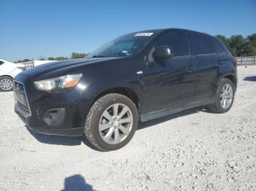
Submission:
[[15,81],[13,92],[15,95],[15,110],[23,117],[31,116],[29,102],[26,97],[26,90],[22,83]]

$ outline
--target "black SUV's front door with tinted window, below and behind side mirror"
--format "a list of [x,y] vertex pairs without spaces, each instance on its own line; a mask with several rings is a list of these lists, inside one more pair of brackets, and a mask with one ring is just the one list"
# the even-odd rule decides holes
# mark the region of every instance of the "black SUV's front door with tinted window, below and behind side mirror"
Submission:
[[[154,48],[169,46],[173,58],[155,61]],[[187,32],[167,31],[153,44],[146,71],[148,110],[176,109],[195,99],[195,57],[190,55]]]

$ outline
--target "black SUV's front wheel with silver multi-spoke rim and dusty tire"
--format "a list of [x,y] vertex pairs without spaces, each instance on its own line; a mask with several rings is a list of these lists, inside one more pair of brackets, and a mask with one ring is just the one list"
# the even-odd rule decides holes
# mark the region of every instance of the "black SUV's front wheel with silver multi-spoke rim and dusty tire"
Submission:
[[[126,113],[122,115],[123,112]],[[128,144],[137,126],[138,110],[132,100],[125,95],[111,93],[102,96],[91,106],[84,133],[94,147],[111,151]]]

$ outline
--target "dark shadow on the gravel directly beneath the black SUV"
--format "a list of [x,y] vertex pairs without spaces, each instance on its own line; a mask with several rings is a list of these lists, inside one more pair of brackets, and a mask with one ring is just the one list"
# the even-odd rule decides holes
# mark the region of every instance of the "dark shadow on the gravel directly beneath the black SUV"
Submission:
[[[184,117],[189,114],[195,114],[197,112],[211,112],[208,107],[206,106],[200,106],[193,109],[187,109],[182,112],[178,112],[176,114],[170,114],[166,117],[160,117],[155,120],[149,120],[146,122],[140,122],[138,124],[137,130],[141,130],[144,128],[149,128],[151,126],[157,125],[162,122],[166,122],[168,120],[173,120],[178,117]],[[37,141],[43,143],[43,144],[56,144],[56,145],[64,145],[64,146],[77,146],[80,144],[85,144],[90,149],[94,149],[99,151],[96,147],[93,147],[89,141],[86,139],[86,136],[78,136],[78,137],[70,137],[70,136],[50,136],[50,135],[44,135],[41,133],[37,133],[34,130],[31,130],[29,127],[26,127],[29,133],[31,133],[32,136],[34,136]]]

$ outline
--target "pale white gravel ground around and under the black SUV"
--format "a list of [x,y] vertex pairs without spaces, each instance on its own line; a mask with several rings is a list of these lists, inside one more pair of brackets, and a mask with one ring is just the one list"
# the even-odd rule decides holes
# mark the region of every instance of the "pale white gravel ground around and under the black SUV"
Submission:
[[189,109],[140,124],[98,152],[82,138],[28,130],[0,93],[0,190],[256,190],[256,67],[238,67],[230,112]]

